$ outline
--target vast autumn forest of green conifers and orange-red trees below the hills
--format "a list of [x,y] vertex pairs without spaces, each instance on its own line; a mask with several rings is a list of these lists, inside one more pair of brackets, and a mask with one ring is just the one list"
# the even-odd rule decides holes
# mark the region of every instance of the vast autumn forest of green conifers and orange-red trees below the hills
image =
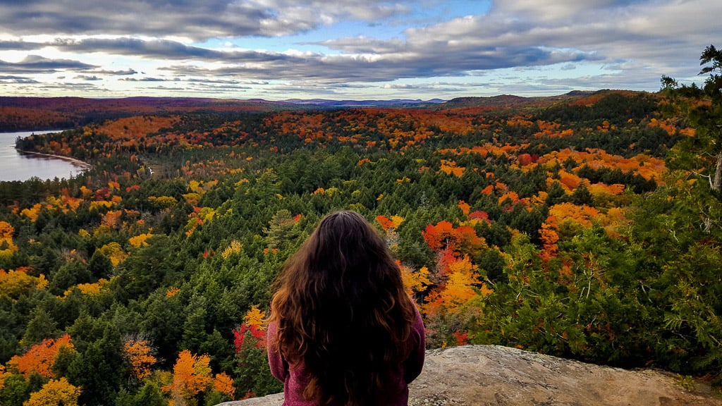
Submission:
[[722,52],[701,61],[703,87],[663,77],[656,93],[57,110],[71,129],[17,147],[92,169],[0,182],[0,404],[281,392],[265,355],[272,284],[342,209],[386,237],[430,348],[719,385]]

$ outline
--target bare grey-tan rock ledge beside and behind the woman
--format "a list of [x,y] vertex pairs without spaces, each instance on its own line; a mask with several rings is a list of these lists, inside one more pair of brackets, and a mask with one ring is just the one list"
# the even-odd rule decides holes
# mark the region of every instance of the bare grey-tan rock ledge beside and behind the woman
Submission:
[[[282,394],[222,406],[280,406]],[[596,366],[496,345],[427,351],[409,405],[722,406],[705,382]]]

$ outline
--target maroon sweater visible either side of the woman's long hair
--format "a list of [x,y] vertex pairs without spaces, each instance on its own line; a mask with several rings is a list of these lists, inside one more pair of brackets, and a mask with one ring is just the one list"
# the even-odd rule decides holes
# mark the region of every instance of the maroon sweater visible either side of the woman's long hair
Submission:
[[[415,308],[415,306],[414,306]],[[303,398],[303,389],[308,384],[310,375],[305,366],[290,368],[286,358],[274,347],[272,342],[276,337],[277,324],[271,323],[268,329],[269,364],[271,373],[283,382],[284,406],[316,406],[316,402]],[[378,394],[375,406],[406,406],[409,404],[409,386],[424,366],[426,347],[426,334],[424,322],[419,311],[416,311],[416,321],[412,327],[411,337],[406,344],[406,356],[399,365],[390,365],[389,379],[383,393]]]

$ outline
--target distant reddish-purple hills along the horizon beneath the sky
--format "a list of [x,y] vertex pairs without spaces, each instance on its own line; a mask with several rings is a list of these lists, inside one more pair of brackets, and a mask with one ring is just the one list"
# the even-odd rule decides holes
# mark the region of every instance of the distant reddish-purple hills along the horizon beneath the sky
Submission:
[[144,114],[239,111],[319,110],[327,108],[523,108],[590,98],[598,100],[609,92],[573,91],[565,95],[525,98],[516,95],[498,95],[479,98],[442,100],[329,100],[329,99],[213,99],[213,98],[24,98],[0,97],[0,131],[30,131],[42,129],[69,129],[111,118]]

